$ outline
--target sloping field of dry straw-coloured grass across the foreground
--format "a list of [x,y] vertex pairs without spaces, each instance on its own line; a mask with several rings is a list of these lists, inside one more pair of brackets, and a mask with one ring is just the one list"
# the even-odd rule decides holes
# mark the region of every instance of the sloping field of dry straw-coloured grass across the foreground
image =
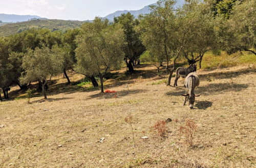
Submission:
[[[117,94],[66,86],[57,76],[46,101],[0,102],[0,167],[256,166],[255,67],[199,70],[194,109],[183,106],[184,79],[167,87],[167,75],[158,77],[153,66],[136,69],[105,81],[105,89]],[[12,88],[10,96],[23,94]],[[131,124],[125,122],[129,115]],[[173,121],[160,137],[153,127],[168,118]],[[193,146],[179,131],[186,119],[197,125]]]

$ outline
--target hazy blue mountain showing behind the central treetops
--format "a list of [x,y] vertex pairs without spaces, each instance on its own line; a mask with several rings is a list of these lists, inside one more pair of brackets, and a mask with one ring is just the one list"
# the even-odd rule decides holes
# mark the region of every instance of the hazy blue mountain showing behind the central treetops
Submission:
[[[176,3],[176,5],[175,5],[175,7],[182,6],[184,3],[185,3],[184,0],[177,0],[177,3]],[[156,3],[155,3],[155,4],[152,4],[152,5],[156,5]],[[124,11],[116,11],[116,12],[114,12],[114,13],[112,13],[112,14],[109,14],[109,15],[105,16],[104,18],[107,18],[107,19],[109,19],[109,20],[114,20],[114,17],[118,17],[118,16],[120,16],[122,13],[128,13],[128,12],[130,12],[132,15],[135,16],[135,18],[137,18],[140,14],[148,14],[148,13],[150,13],[151,11],[150,11],[150,7],[149,7],[149,6],[150,6],[150,5],[145,6],[144,8],[139,9],[139,10],[135,10],[135,11],[127,11],[127,10],[124,10]]]

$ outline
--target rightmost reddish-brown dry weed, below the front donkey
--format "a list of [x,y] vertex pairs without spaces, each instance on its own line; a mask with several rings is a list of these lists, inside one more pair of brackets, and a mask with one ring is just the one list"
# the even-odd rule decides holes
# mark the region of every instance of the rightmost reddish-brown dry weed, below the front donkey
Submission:
[[185,126],[180,126],[180,133],[185,135],[186,142],[190,147],[193,146],[193,139],[196,131],[197,131],[197,125],[191,119],[186,119]]

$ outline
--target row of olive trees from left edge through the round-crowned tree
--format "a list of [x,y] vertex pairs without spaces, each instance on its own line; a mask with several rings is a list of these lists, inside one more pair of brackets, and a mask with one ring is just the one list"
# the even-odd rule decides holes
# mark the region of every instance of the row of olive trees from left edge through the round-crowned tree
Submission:
[[98,75],[103,92],[103,76],[121,65],[125,57],[125,35],[122,25],[109,24],[95,18],[79,30],[66,33],[47,29],[32,29],[0,39],[0,87],[13,84],[26,89],[31,81],[38,81],[47,98],[47,83],[53,75],[63,72],[70,83],[67,70],[86,75],[95,87]]

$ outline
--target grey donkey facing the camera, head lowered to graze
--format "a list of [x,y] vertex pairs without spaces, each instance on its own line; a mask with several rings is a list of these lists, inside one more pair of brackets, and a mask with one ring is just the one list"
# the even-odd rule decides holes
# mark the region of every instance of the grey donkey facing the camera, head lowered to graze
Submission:
[[199,86],[200,80],[196,72],[191,72],[187,75],[185,78],[184,84],[186,87],[186,94],[182,94],[182,96],[185,96],[184,104],[186,104],[187,98],[189,102],[189,107],[192,109],[194,107],[195,97],[198,97],[200,95],[195,95],[194,90],[196,87]]

